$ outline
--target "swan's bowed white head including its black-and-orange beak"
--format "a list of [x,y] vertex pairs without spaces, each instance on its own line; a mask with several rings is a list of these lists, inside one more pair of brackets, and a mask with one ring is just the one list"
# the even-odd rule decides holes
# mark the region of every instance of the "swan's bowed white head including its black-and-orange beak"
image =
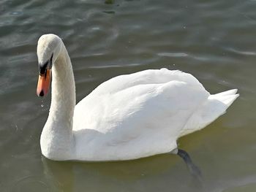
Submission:
[[45,96],[50,87],[51,68],[61,52],[61,39],[55,34],[42,35],[37,43],[39,78],[37,96]]

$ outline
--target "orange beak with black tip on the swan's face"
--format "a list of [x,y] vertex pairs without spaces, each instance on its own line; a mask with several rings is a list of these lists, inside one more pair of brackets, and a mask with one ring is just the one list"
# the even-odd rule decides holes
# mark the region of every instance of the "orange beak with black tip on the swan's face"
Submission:
[[51,70],[47,69],[45,74],[39,74],[37,82],[37,96],[46,96],[50,88]]

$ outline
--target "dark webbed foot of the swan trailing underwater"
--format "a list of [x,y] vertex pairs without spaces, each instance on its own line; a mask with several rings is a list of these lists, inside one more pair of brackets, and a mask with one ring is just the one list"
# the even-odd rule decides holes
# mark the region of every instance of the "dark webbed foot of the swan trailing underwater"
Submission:
[[192,174],[192,176],[196,177],[197,180],[202,180],[202,174],[200,172],[200,169],[192,162],[189,154],[185,150],[180,149],[178,149],[176,154],[179,155],[187,164],[189,172]]

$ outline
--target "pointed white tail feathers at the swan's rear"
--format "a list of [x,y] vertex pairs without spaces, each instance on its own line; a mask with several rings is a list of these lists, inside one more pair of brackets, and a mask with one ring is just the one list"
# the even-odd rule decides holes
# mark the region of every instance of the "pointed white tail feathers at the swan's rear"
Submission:
[[180,137],[198,131],[217,118],[223,115],[230,104],[238,98],[237,89],[232,89],[222,93],[210,95],[202,107],[189,118],[184,128],[181,130]]

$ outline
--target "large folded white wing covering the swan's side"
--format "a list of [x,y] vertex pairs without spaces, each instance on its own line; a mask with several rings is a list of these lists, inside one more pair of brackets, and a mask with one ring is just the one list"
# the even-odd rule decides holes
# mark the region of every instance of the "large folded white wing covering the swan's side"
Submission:
[[[189,75],[178,73],[179,76],[184,75],[184,79]],[[135,85],[127,80],[124,81],[124,86],[120,83],[122,78],[119,78],[99,85],[100,90],[97,88],[78,103],[73,128],[78,132],[94,130],[96,134],[91,134],[91,138],[84,138],[90,141],[87,142],[87,147],[91,145],[94,150],[97,147],[100,150],[102,147],[99,146],[110,146],[104,147],[104,150],[116,148],[118,156],[124,159],[129,158],[127,155],[135,158],[137,155],[141,157],[173,150],[190,115],[209,95],[197,80],[186,82],[181,77],[179,80],[171,80],[169,77],[167,82],[155,79],[156,81],[151,82],[156,83],[148,84],[138,79],[137,82],[145,83]],[[130,81],[132,79],[133,77]],[[149,78],[148,81],[153,79]],[[113,84],[110,85],[110,82]],[[103,92],[104,87],[111,91]],[[83,139],[81,135],[78,137],[78,140]],[[118,150],[120,147],[121,150]],[[106,154],[111,156],[113,151],[115,150]],[[116,155],[113,154],[113,157]]]

